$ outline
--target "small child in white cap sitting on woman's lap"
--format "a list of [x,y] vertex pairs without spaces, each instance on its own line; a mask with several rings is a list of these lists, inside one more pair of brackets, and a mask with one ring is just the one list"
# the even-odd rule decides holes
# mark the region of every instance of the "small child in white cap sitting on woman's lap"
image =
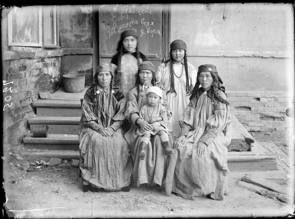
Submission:
[[171,155],[174,154],[174,150],[169,145],[168,129],[167,129],[167,114],[165,108],[160,104],[163,98],[163,94],[160,88],[152,86],[147,90],[147,102],[140,112],[139,117],[144,119],[146,122],[153,126],[152,131],[144,130],[142,128],[137,128],[136,134],[143,135],[142,142],[139,146],[139,159],[145,159],[145,149],[148,145],[151,135],[159,134],[160,139],[163,143],[164,154]]

